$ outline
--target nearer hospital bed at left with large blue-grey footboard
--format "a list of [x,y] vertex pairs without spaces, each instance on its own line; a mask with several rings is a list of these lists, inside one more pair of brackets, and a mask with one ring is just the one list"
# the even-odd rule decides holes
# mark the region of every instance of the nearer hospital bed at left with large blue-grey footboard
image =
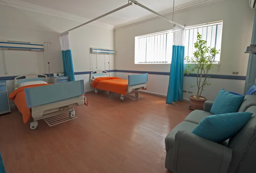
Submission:
[[[28,87],[21,86],[19,88],[20,84],[31,81],[48,82],[48,78],[46,75],[41,74],[18,76],[14,79],[15,91],[11,93],[11,95],[13,95],[16,107],[22,114],[26,114],[25,116],[27,116],[26,110],[29,109],[29,111],[31,111],[29,115],[31,114],[34,119],[34,121],[30,123],[30,129],[32,130],[37,128],[38,120],[40,119],[50,118],[53,116],[57,117],[64,113],[68,113],[68,119],[73,118],[75,116],[75,110],[73,107],[84,104],[83,80],[59,84],[34,84],[29,85]],[[22,101],[25,102],[25,100],[26,104],[21,103]],[[24,105],[27,108],[25,108]],[[22,110],[25,110],[25,112]],[[23,115],[24,123],[26,123],[29,118],[24,121]]]

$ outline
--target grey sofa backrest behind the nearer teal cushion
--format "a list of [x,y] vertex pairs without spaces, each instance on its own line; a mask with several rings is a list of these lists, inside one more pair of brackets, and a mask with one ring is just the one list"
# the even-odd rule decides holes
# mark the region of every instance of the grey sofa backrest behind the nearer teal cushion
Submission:
[[[256,98],[256,95],[253,96]],[[251,101],[251,98],[249,97],[248,101]],[[228,147],[233,153],[228,173],[256,172],[256,106],[247,108],[245,112],[251,112],[253,115],[247,124],[230,138]]]

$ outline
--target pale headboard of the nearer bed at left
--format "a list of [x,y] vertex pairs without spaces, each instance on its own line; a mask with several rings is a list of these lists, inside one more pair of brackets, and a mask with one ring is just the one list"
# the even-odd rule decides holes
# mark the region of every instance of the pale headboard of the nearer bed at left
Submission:
[[22,82],[29,82],[29,81],[45,81],[48,83],[47,75],[42,74],[31,74],[31,75],[21,75],[14,78],[14,88],[18,87],[18,84]]

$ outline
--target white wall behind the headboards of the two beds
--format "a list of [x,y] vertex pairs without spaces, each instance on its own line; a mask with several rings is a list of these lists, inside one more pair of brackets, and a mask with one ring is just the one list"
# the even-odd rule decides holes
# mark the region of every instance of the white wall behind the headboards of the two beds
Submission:
[[[81,23],[59,17],[40,14],[7,6],[0,6],[0,40],[26,42],[52,42],[49,45],[50,73],[63,72],[59,33]],[[110,29],[87,25],[70,32],[70,44],[75,72],[96,70],[96,58],[92,57],[90,66],[90,47],[113,49],[114,32]],[[48,73],[47,47],[45,52],[5,51],[6,67],[3,70],[3,56],[0,52],[0,77],[31,73]],[[110,58],[114,69],[113,56]],[[98,55],[98,69],[108,70],[108,57]],[[85,91],[91,90],[89,75],[75,75],[76,80],[84,79]],[[8,92],[13,91],[13,80],[7,81]],[[11,102],[11,104],[13,104]]]

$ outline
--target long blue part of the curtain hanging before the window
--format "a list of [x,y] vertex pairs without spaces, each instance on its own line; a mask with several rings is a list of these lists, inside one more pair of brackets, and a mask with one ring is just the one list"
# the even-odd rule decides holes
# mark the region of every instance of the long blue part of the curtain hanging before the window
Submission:
[[172,46],[172,65],[166,103],[172,104],[183,99],[183,72],[185,46]]

